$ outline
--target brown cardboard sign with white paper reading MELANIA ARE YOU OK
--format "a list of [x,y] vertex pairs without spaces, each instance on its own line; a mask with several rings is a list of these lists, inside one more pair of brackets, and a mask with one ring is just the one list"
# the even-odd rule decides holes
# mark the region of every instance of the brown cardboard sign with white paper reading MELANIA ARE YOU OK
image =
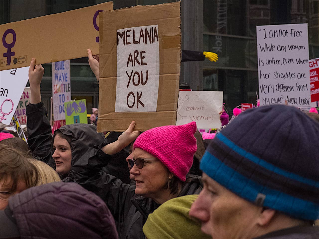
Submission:
[[[164,14],[165,13],[165,14]],[[179,90],[179,74],[181,64],[181,18],[180,18],[180,2],[152,5],[152,6],[135,6],[123,8],[115,11],[101,12],[99,15],[100,22],[100,91],[99,91],[99,120],[97,131],[125,131],[132,120],[136,121],[135,130],[147,130],[153,127],[176,124],[176,111]],[[123,21],[125,19],[125,21]],[[154,26],[157,26],[156,32]],[[153,27],[153,28],[152,28]],[[147,29],[148,33],[146,33]],[[149,29],[151,28],[151,32]],[[126,31],[122,37],[117,38],[123,31],[119,29],[131,29]],[[137,32],[136,29],[139,29]],[[142,29],[142,32],[141,32]],[[153,29],[153,30],[152,30]],[[135,31],[133,31],[135,30]],[[134,38],[135,33],[135,38]],[[157,36],[156,36],[157,33]],[[130,35],[130,36],[129,36]],[[145,45],[143,43],[143,38]],[[159,47],[159,58],[157,54]],[[119,40],[119,51],[126,45],[132,47],[125,53],[124,60],[117,58]],[[147,45],[146,45],[147,39]],[[151,43],[152,42],[152,43]],[[130,43],[130,44],[129,44]],[[125,44],[125,46],[123,46]],[[149,45],[149,46],[148,46]],[[139,47],[147,47],[144,49]],[[137,51],[134,55],[134,51]],[[150,52],[154,55],[150,55]],[[132,54],[133,67],[129,59]],[[138,55],[137,55],[138,53]],[[143,58],[145,57],[145,58]],[[142,60],[141,60],[142,59]],[[156,108],[152,105],[156,100],[156,67],[159,59],[159,83]],[[119,62],[124,61],[124,62]],[[147,63],[142,65],[141,62]],[[129,63],[129,64],[127,64]],[[134,66],[135,65],[135,66]],[[120,69],[118,69],[118,66]],[[154,69],[149,68],[153,66]],[[119,70],[121,73],[119,73]],[[134,82],[130,80],[135,72]],[[141,71],[143,72],[143,82]],[[148,81],[146,82],[146,70],[148,70]],[[126,74],[128,72],[128,75]],[[121,74],[121,75],[118,75]],[[152,74],[152,78],[151,78]],[[154,75],[153,75],[154,74]],[[125,83],[121,83],[119,87],[126,88],[122,94],[117,94],[117,77],[126,78]],[[154,77],[153,77],[154,76]],[[139,81],[139,85],[138,85]],[[154,82],[155,81],[155,82]],[[133,83],[137,84],[134,85]],[[143,85],[142,83],[145,83]],[[145,108],[146,104],[152,105],[151,110],[156,112],[116,112],[116,97],[122,98],[122,105],[127,105],[128,86],[134,94],[135,104],[133,107],[137,110]],[[152,86],[150,92],[145,92],[146,87]],[[141,88],[138,88],[141,87]],[[142,94],[141,91],[142,90]],[[138,92],[138,93],[137,93]],[[138,95],[137,95],[138,94]],[[125,100],[125,101],[124,101]],[[139,101],[138,101],[139,100]],[[133,105],[133,95],[129,95],[128,103]],[[140,104],[142,102],[144,107]],[[146,103],[147,102],[147,103]],[[127,107],[127,106],[126,106]],[[148,109],[150,110],[150,109]]]

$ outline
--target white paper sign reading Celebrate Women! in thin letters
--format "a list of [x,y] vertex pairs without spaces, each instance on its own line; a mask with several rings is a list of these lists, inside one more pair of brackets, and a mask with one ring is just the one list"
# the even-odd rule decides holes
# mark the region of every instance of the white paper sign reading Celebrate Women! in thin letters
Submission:
[[219,128],[223,91],[180,91],[176,125],[196,121],[197,128]]

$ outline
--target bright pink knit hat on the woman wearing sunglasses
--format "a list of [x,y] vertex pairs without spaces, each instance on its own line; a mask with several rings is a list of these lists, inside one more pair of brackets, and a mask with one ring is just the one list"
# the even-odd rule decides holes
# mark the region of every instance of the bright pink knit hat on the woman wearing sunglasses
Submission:
[[197,150],[196,122],[149,129],[140,134],[134,148],[140,148],[158,158],[176,177],[185,182]]

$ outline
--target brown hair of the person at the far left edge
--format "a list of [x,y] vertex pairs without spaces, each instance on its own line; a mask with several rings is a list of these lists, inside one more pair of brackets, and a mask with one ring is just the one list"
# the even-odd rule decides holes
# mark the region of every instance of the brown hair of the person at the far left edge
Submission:
[[11,191],[17,190],[22,180],[28,188],[35,186],[39,180],[38,170],[31,163],[32,158],[21,151],[0,144],[0,181],[12,181]]

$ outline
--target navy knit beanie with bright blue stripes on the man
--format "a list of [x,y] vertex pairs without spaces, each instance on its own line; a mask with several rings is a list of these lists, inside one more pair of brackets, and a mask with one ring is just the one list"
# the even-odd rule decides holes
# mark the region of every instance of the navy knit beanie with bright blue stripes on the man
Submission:
[[296,107],[241,113],[216,134],[200,169],[258,206],[302,220],[319,217],[319,124]]

